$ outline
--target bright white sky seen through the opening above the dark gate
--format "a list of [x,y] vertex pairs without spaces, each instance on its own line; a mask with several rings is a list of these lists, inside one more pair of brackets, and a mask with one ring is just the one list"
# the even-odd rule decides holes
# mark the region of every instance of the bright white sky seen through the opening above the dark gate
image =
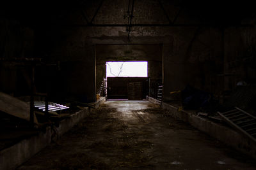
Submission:
[[147,77],[147,61],[106,62],[107,77]]

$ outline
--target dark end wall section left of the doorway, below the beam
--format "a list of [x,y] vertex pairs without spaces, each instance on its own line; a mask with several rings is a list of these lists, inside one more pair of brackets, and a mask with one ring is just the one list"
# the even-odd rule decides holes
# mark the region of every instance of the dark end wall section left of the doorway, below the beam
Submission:
[[55,74],[48,89],[52,97],[72,99],[84,103],[94,102],[95,94],[95,45],[86,42],[84,34],[76,28],[38,29],[36,52],[47,62],[59,64],[58,69],[47,71]]

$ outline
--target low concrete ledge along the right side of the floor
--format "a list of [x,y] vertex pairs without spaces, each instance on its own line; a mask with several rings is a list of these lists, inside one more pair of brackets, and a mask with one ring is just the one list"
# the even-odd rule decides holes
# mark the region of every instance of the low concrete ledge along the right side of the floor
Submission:
[[209,136],[218,139],[225,143],[225,145],[231,146],[232,148],[256,159],[256,143],[247,136],[244,136],[229,127],[198,117],[193,113],[189,113],[189,111],[178,111],[177,107],[171,106],[170,104],[163,103],[162,107],[169,110],[174,118],[188,122],[196,129],[209,134]]

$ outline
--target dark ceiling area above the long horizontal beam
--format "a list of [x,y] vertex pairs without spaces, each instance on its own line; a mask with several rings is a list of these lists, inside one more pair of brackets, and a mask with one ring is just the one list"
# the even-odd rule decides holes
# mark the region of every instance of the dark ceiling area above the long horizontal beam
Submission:
[[[180,24],[181,15],[196,18],[201,24],[241,24],[244,18],[255,17],[253,1],[202,1],[202,0],[70,0],[70,1],[1,1],[1,17],[19,20],[24,25],[93,25],[98,17],[111,17],[107,24],[127,24],[125,11],[132,12],[136,24]],[[115,6],[116,4],[116,6]],[[150,14],[143,11],[151,11]],[[123,11],[118,13],[118,11]],[[115,13],[116,12],[116,13]],[[100,13],[100,15],[99,15]],[[111,15],[111,13],[115,13]],[[121,14],[121,15],[120,15]],[[124,14],[124,15],[122,15]],[[143,20],[143,15],[152,15],[152,23]],[[142,16],[142,17],[141,17]],[[116,19],[115,19],[116,17]],[[146,16],[145,16],[146,17]],[[140,20],[139,20],[140,18]],[[136,20],[137,19],[137,20]],[[140,22],[139,22],[140,21]],[[177,23],[173,23],[173,21]],[[196,24],[198,24],[196,22]],[[102,23],[101,23],[102,24]],[[106,24],[106,23],[103,23]],[[132,23],[134,24],[134,23]],[[189,22],[182,24],[191,24]]]

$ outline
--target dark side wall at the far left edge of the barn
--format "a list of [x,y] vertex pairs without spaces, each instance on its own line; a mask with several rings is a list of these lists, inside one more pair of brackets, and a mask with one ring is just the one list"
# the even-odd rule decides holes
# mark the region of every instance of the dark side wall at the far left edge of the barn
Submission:
[[28,94],[29,67],[11,60],[34,55],[35,31],[19,20],[0,17],[0,91]]

